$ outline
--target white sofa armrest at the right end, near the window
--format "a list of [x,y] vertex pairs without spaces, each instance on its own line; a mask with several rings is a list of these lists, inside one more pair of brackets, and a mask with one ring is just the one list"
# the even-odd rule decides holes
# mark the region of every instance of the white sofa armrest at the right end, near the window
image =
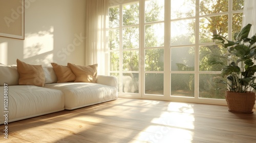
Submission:
[[114,76],[98,75],[96,83],[118,87],[117,78]]

